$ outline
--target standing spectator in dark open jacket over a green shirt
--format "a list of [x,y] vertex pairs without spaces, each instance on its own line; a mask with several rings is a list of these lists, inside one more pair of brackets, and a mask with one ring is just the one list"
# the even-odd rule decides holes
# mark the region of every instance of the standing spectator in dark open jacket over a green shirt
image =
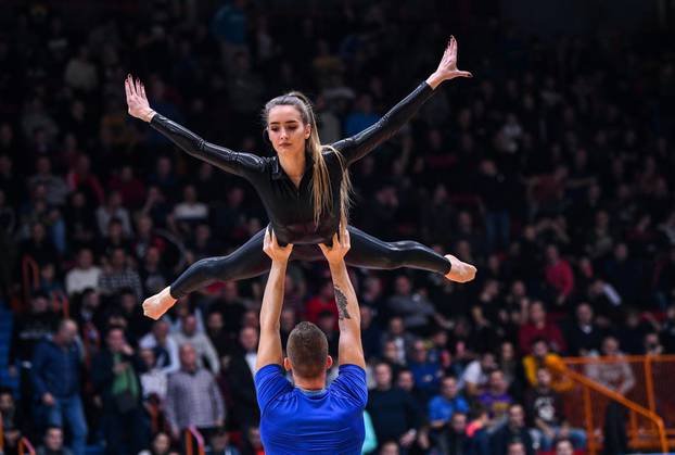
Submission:
[[[105,350],[93,361],[92,380],[103,401],[103,431],[109,455],[137,454],[148,439],[138,378],[140,361],[119,328],[109,330]],[[124,439],[129,435],[129,444]]]

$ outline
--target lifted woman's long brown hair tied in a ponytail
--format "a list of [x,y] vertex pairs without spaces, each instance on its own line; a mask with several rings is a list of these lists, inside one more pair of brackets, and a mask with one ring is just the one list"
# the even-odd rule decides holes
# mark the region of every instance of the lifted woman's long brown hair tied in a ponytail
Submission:
[[321,215],[333,207],[333,193],[330,186],[330,175],[323,159],[323,150],[330,150],[338,156],[342,167],[342,182],[340,185],[340,222],[346,226],[352,204],[352,180],[344,156],[332,146],[321,144],[317,121],[314,115],[314,108],[309,99],[300,91],[291,91],[271,99],[265,104],[263,119],[265,125],[269,121],[269,111],[278,105],[292,105],[300,112],[301,118],[305,124],[309,124],[309,139],[306,149],[311,154],[314,161],[311,193],[314,195],[314,222],[319,223]]

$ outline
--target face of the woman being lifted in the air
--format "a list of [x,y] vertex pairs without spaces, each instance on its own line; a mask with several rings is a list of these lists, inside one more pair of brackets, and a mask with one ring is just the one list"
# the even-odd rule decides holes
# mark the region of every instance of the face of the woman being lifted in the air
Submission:
[[304,152],[310,126],[303,123],[300,111],[293,105],[277,105],[269,111],[267,134],[279,155]]

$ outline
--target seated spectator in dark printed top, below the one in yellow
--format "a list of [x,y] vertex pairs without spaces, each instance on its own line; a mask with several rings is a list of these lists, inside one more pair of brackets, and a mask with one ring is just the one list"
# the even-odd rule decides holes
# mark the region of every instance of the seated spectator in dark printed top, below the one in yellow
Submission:
[[543,451],[550,451],[558,438],[570,438],[578,450],[586,448],[584,430],[571,428],[562,414],[562,397],[551,387],[548,368],[537,369],[537,384],[527,392],[527,415],[534,422],[533,434]]

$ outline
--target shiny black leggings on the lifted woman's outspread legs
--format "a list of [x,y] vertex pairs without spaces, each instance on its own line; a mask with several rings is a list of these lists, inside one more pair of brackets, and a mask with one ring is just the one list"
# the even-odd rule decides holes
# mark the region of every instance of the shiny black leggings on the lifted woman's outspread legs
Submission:
[[[263,251],[266,230],[260,230],[227,256],[207,257],[192,264],[171,283],[171,296],[179,299],[214,280],[242,280],[268,271],[271,260]],[[411,240],[384,242],[353,226],[348,226],[347,230],[352,248],[345,256],[345,262],[351,266],[385,270],[410,267],[443,275],[450,271],[448,260],[419,242]],[[291,253],[291,261],[323,258],[321,249],[316,244],[295,245]]]

